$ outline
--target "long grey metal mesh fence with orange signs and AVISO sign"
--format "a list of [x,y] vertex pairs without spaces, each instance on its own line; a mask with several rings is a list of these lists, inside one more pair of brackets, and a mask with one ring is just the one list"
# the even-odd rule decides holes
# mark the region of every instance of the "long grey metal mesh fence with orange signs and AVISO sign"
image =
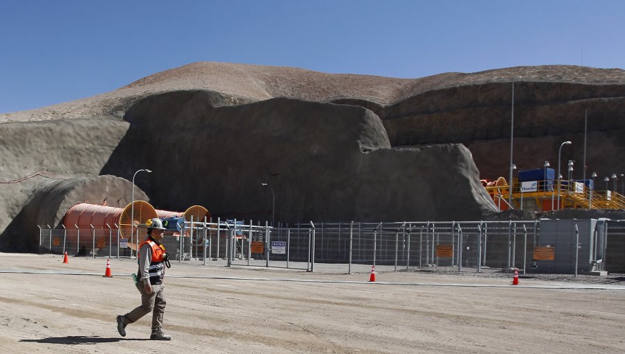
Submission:
[[[403,269],[484,267],[540,273],[534,250],[540,244],[537,221],[419,221],[399,223],[317,223],[272,228],[252,221],[186,221],[168,230],[163,244],[170,260],[228,260],[228,266],[285,267],[314,271],[315,262],[343,264],[346,273],[371,266]],[[132,258],[145,235],[106,229],[40,227],[40,253]],[[132,235],[123,239],[120,235]],[[606,256],[598,269],[623,272],[625,223],[606,222]],[[549,245],[548,245],[549,246]],[[580,246],[578,246],[580,248]],[[578,252],[578,251],[575,251]],[[540,263],[540,262],[539,262]]]

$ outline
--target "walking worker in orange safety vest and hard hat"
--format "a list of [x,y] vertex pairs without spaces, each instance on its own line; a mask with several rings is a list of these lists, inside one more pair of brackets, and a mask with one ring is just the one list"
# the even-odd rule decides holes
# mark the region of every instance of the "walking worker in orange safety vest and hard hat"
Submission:
[[135,286],[141,293],[141,305],[131,312],[117,316],[117,332],[126,337],[126,326],[138,321],[152,312],[152,334],[150,339],[172,339],[163,334],[163,314],[165,313],[165,267],[170,267],[165,246],[161,243],[165,237],[163,221],[158,218],[146,222],[147,239],[139,248],[139,271]]

